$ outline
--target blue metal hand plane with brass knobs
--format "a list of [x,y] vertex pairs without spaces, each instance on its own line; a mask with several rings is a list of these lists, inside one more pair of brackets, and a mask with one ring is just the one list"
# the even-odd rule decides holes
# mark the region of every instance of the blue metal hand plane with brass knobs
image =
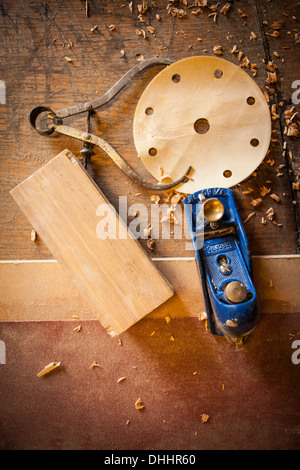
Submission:
[[233,192],[210,188],[184,200],[209,329],[237,348],[255,329],[260,310],[251,254]]

